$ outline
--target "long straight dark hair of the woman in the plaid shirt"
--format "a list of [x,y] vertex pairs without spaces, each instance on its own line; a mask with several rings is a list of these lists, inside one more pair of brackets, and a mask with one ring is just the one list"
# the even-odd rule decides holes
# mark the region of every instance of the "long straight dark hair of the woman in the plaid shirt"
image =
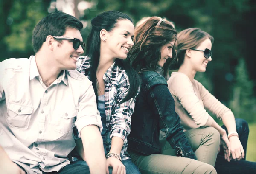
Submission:
[[[112,31],[113,28],[116,27],[116,23],[118,20],[131,20],[127,14],[123,14],[119,11],[105,11],[98,16],[94,17],[91,21],[92,29],[87,38],[87,46],[86,46],[86,55],[90,57],[90,80],[93,82],[93,89],[96,95],[96,100],[98,103],[98,81],[96,76],[96,70],[99,65],[99,56],[100,56],[100,31],[105,29],[106,31]],[[137,94],[140,83],[138,83],[137,72],[124,60],[116,59],[116,65],[123,68],[125,73],[128,76],[130,82],[130,89],[125,98],[122,99],[121,103],[128,101]]]

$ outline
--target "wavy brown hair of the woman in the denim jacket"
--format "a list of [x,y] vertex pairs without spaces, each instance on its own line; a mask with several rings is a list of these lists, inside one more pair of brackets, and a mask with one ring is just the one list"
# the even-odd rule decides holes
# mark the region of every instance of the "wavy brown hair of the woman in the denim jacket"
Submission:
[[[157,62],[161,59],[161,47],[168,42],[176,41],[177,31],[169,22],[162,21],[160,17],[150,17],[138,26],[134,32],[134,45],[127,55],[126,61],[137,71],[156,71]],[[163,76],[166,77],[169,67],[175,60],[176,53],[172,48],[172,59],[168,59],[163,66]]]

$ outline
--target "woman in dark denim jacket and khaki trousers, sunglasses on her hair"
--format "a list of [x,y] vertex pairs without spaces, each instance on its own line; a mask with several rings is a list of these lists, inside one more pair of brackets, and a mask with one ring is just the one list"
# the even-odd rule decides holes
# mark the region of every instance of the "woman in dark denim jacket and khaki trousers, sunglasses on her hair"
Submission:
[[160,17],[149,18],[135,30],[127,61],[139,73],[142,86],[131,118],[128,152],[143,174],[216,173],[219,133],[213,128],[184,133],[166,79],[156,72],[163,67],[167,75],[176,39],[173,26]]

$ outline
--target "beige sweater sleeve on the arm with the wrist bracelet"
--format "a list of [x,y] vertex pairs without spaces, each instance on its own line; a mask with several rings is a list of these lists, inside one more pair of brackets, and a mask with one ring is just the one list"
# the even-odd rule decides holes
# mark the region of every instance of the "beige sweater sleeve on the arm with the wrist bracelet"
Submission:
[[211,111],[213,114],[217,116],[218,119],[222,119],[223,115],[227,112],[232,112],[229,108],[227,108],[224,104],[218,101],[215,96],[213,96],[205,87],[195,80],[196,85],[198,86],[198,90],[200,92],[201,99],[203,101],[204,107]]

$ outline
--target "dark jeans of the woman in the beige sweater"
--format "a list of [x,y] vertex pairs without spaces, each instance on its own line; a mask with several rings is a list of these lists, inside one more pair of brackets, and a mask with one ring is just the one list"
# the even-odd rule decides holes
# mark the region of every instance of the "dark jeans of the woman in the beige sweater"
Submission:
[[[226,126],[221,126],[226,130]],[[249,136],[249,126],[248,123],[241,118],[236,118],[236,131],[239,135],[239,140],[244,148],[244,159],[240,161],[231,160],[228,162],[224,158],[224,151],[221,149],[221,152],[217,156],[215,163],[215,168],[218,174],[255,174],[256,173],[256,162],[246,161],[246,150],[247,150],[247,141]],[[228,133],[228,132],[227,132]]]

